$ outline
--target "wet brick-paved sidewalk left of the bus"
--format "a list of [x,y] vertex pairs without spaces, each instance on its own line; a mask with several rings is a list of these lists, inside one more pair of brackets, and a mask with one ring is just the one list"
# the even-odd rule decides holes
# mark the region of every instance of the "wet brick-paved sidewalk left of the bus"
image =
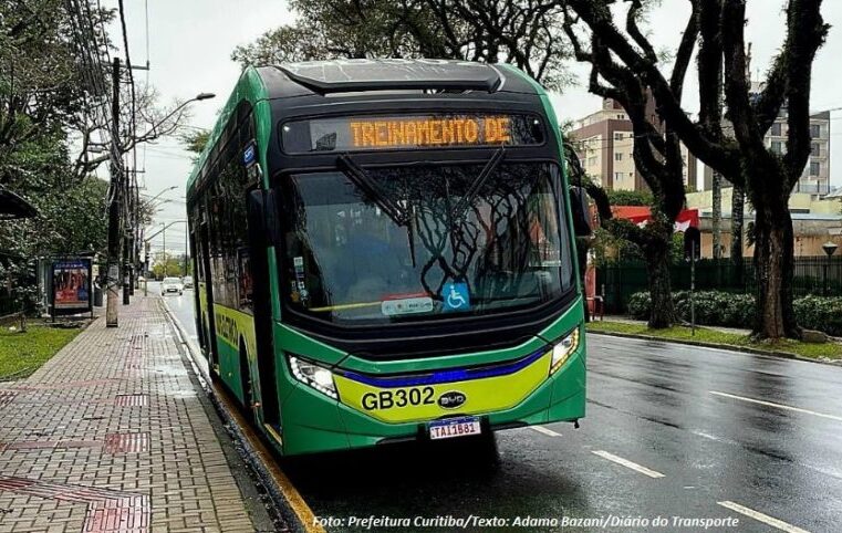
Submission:
[[163,302],[0,384],[0,532],[252,532]]

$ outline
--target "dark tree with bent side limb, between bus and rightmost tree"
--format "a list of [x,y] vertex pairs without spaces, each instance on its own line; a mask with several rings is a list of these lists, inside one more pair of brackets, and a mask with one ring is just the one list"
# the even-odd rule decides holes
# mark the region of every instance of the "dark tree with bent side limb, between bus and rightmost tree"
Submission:
[[[613,41],[606,38],[606,31],[591,23],[600,21],[625,42],[625,38],[614,27],[609,3],[613,2],[571,0],[568,4],[572,11],[565,11],[563,28],[572,43],[575,59],[591,66],[589,90],[620,103],[632,122],[635,167],[653,194],[652,220],[641,228],[628,220],[615,219],[604,190],[591,184],[588,192],[596,203],[602,226],[614,237],[627,240],[643,251],[653,302],[648,325],[668,327],[676,317],[669,282],[669,257],[673,226],[685,205],[684,164],[672,121],[659,118],[653,112],[662,104],[658,95],[654,94],[652,81],[642,72],[617,61],[612,48]],[[626,31],[644,50],[647,60],[657,64],[659,58],[640,28],[644,15],[644,4],[638,0],[632,1],[626,15]],[[582,31],[580,20],[588,23],[590,33]],[[668,82],[679,95],[697,35],[698,25],[692,19],[675,55]]]

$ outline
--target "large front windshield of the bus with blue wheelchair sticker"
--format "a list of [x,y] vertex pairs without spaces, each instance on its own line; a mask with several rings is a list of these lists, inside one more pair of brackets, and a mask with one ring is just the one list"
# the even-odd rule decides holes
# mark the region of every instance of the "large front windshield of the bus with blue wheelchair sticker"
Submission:
[[429,321],[528,309],[573,286],[555,165],[360,170],[365,187],[346,171],[282,179],[293,311],[337,324]]

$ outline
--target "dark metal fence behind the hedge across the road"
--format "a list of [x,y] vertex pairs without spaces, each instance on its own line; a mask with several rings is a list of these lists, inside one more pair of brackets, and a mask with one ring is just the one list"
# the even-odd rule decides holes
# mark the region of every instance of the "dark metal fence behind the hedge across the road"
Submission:
[[[742,276],[730,259],[703,259],[696,263],[696,290],[718,290],[753,294],[757,290],[752,258],[744,258]],[[669,268],[673,291],[690,289],[690,265],[682,262]],[[628,297],[647,291],[646,265],[623,262],[596,269],[596,292],[605,296],[606,313],[625,313]],[[793,291],[796,296],[808,294],[842,296],[842,255],[796,258]]]

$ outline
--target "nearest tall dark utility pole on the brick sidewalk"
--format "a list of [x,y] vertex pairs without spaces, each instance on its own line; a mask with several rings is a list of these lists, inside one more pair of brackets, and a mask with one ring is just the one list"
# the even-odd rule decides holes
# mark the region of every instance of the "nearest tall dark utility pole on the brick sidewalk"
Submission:
[[111,103],[111,200],[108,202],[108,260],[106,272],[106,309],[105,325],[117,327],[117,291],[119,275],[121,245],[121,200],[123,191],[123,155],[119,147],[119,58],[114,58],[112,66],[112,103]]

